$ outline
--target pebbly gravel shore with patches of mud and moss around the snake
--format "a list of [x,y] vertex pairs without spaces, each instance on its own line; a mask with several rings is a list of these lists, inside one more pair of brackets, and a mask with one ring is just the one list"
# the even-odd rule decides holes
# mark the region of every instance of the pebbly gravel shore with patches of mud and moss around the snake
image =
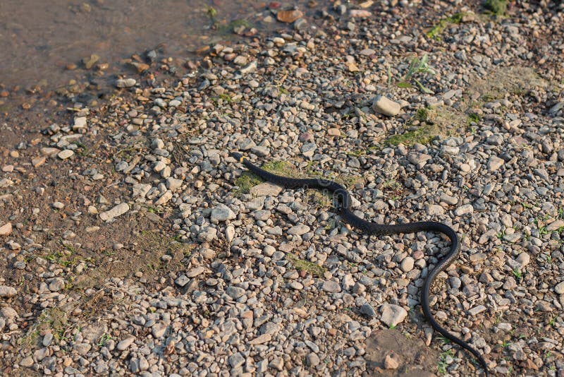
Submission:
[[491,371],[564,376],[563,6],[396,3],[215,44],[181,79],[121,78],[23,142],[4,124],[2,373],[479,372],[419,309],[446,239],[366,237],[238,150],[346,184],[364,218],[452,226],[436,318]]

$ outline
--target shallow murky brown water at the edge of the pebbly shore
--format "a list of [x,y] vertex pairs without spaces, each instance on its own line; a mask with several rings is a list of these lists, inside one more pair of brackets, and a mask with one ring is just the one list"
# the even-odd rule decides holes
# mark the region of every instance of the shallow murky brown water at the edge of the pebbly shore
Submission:
[[16,85],[65,85],[79,74],[66,66],[82,68],[80,61],[92,54],[99,56],[97,64],[109,65],[106,72],[120,71],[121,59],[155,47],[168,56],[188,57],[222,37],[211,28],[210,6],[216,11],[214,21],[227,25],[252,18],[266,4],[245,0],[2,0],[0,85],[10,91]]

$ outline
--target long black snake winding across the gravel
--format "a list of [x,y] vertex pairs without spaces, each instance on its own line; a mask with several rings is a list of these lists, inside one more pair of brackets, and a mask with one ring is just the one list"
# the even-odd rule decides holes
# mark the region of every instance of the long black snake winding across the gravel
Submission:
[[408,224],[400,225],[381,225],[376,224],[375,222],[366,221],[353,213],[353,211],[351,210],[352,201],[350,193],[348,192],[347,188],[345,188],[345,186],[338,184],[335,181],[330,181],[329,179],[297,179],[286,176],[279,176],[270,172],[266,172],[266,170],[257,167],[255,164],[252,164],[250,160],[243,157],[243,155],[238,152],[231,152],[231,156],[235,157],[235,159],[243,163],[245,167],[247,167],[247,169],[249,169],[252,173],[256,174],[265,181],[270,181],[285,188],[315,188],[318,190],[326,190],[333,193],[333,198],[336,201],[336,210],[337,213],[341,216],[341,219],[344,222],[347,222],[351,226],[355,227],[356,229],[362,230],[362,232],[366,234],[384,236],[390,234],[407,234],[422,231],[440,232],[445,234],[451,242],[450,250],[448,251],[448,254],[441,261],[439,261],[435,268],[433,268],[433,270],[429,272],[427,278],[425,279],[421,293],[421,306],[423,313],[434,330],[441,333],[443,337],[446,337],[448,340],[455,342],[460,347],[472,353],[474,357],[476,357],[476,359],[479,361],[479,363],[482,364],[485,375],[488,376],[488,367],[486,361],[482,357],[482,354],[468,345],[467,342],[464,342],[460,338],[455,337],[455,335],[449,333],[448,330],[439,325],[439,323],[437,323],[433,314],[431,313],[431,308],[429,306],[429,289],[431,287],[431,284],[434,282],[436,276],[439,275],[441,271],[446,270],[446,268],[448,268],[448,266],[452,264],[460,255],[460,241],[456,232],[451,227],[442,224],[441,222],[434,221],[410,222]]

